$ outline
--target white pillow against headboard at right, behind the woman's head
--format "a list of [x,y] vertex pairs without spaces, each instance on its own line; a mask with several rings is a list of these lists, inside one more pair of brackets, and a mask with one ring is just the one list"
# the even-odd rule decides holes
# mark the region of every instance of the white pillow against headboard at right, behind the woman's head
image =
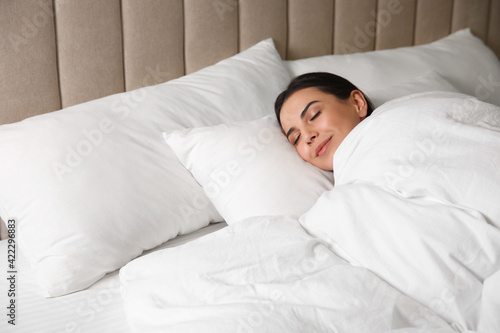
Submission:
[[366,91],[434,70],[460,92],[500,106],[500,62],[470,29],[425,45],[290,60],[285,65],[292,76],[332,72]]

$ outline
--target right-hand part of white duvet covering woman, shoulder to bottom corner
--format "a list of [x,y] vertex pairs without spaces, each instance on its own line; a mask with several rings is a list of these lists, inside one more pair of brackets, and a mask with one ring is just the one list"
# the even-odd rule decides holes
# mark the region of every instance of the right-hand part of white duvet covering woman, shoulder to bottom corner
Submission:
[[500,332],[500,108],[424,93],[370,118],[302,225],[456,327]]

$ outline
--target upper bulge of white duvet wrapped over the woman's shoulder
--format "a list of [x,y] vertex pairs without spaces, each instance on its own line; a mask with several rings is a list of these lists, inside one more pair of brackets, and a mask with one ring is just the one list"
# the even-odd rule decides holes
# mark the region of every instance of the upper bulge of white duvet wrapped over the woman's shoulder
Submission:
[[446,92],[393,100],[347,136],[334,170],[337,185],[470,208],[500,227],[500,107]]

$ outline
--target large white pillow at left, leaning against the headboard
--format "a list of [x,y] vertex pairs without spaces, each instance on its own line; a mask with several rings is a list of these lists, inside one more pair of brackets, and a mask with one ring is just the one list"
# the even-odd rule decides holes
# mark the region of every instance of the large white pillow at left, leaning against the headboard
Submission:
[[196,73],[0,126],[0,214],[46,296],[221,221],[162,131],[269,113],[290,80],[272,40]]

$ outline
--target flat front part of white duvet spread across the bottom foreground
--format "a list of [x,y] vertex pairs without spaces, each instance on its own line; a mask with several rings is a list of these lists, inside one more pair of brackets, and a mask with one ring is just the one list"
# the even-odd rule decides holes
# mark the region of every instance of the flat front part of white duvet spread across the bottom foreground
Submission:
[[250,218],[149,254],[120,278],[141,333],[454,332],[287,217]]

